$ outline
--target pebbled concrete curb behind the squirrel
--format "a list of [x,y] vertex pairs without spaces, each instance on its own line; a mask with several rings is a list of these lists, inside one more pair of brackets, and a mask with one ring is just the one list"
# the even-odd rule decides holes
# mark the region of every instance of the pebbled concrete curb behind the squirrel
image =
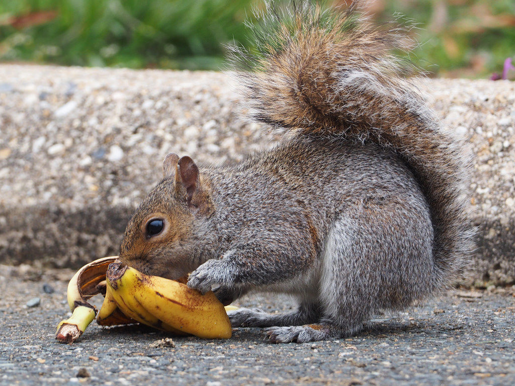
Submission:
[[[515,82],[422,89],[476,154],[470,280],[513,284]],[[78,268],[116,254],[166,153],[237,162],[273,145],[238,119],[231,90],[219,73],[0,65],[0,261]]]

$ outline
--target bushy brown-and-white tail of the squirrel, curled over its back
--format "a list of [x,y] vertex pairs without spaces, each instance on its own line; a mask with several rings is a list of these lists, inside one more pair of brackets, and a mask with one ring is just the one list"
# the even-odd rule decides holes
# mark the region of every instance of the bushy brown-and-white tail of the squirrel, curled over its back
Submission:
[[405,39],[374,29],[356,10],[309,2],[257,13],[253,46],[232,49],[250,117],[296,135],[338,135],[397,153],[415,172],[431,207],[434,284],[460,273],[472,248],[465,214],[469,157],[441,127],[393,56]]

